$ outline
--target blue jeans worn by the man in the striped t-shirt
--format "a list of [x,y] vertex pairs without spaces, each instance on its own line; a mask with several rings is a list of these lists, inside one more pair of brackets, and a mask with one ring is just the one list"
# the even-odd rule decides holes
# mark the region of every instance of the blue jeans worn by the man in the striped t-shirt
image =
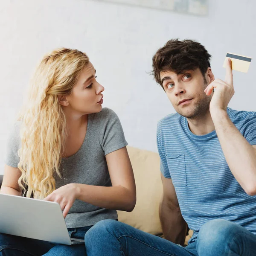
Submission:
[[95,224],[85,244],[87,256],[256,256],[256,236],[221,219],[204,224],[187,247],[113,220]]

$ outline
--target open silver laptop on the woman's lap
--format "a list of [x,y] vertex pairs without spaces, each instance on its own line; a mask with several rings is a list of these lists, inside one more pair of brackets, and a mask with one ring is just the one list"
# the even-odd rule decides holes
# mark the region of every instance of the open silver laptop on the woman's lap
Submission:
[[0,194],[0,233],[59,244],[83,244],[70,238],[58,203]]

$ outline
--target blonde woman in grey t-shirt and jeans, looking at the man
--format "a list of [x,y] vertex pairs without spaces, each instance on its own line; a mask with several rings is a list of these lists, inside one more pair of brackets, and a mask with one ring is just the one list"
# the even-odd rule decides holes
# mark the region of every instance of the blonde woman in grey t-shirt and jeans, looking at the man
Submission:
[[[116,210],[132,211],[136,189],[116,114],[102,108],[104,87],[83,52],[44,56],[11,132],[0,192],[58,202],[73,238]],[[0,256],[86,255],[85,246],[0,234]]]

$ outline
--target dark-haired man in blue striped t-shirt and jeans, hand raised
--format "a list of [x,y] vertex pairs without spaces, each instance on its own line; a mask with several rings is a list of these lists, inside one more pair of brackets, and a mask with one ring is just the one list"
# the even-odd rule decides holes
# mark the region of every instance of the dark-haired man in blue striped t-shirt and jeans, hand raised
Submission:
[[[256,112],[227,107],[231,61],[222,81],[210,58],[192,40],[170,40],[153,57],[152,73],[177,111],[157,126],[160,220],[169,241],[100,221],[85,236],[87,256],[256,255]],[[187,224],[194,233],[182,247]]]

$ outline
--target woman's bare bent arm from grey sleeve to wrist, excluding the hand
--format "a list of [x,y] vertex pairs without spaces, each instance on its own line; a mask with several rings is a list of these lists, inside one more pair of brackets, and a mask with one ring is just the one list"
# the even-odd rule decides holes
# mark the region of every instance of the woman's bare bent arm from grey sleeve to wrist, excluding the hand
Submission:
[[136,187],[126,147],[106,155],[112,187],[77,184],[77,199],[107,209],[131,212],[136,204]]

